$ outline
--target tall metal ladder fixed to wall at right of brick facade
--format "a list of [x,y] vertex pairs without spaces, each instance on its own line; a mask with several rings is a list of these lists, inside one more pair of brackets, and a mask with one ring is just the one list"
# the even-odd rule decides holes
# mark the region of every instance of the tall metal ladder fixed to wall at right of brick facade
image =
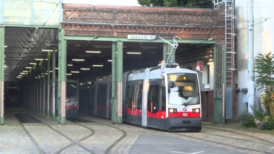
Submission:
[[225,3],[225,45],[226,45],[226,87],[233,86],[233,70],[235,67],[235,14],[234,1],[224,0]]

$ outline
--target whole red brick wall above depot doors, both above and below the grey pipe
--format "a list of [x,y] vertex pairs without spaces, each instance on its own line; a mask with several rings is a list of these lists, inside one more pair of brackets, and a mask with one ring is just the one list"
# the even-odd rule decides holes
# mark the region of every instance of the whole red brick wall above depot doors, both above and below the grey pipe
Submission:
[[[111,23],[129,25],[111,25]],[[216,40],[224,34],[224,29],[218,28],[221,23],[223,21],[220,21],[218,9],[94,7],[92,5],[63,4],[62,25],[67,36],[96,36],[100,34],[100,37],[125,38],[128,34],[172,34],[182,39],[214,38]],[[210,30],[211,27],[215,28]]]

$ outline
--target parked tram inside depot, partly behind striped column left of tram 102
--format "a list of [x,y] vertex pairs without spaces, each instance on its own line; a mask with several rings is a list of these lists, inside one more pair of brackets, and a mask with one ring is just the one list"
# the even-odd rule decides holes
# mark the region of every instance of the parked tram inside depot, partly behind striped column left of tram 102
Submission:
[[[55,86],[55,95],[58,91],[58,81]],[[66,117],[78,117],[79,109],[78,82],[67,79],[66,81]],[[55,96],[55,115],[58,115],[58,96]]]

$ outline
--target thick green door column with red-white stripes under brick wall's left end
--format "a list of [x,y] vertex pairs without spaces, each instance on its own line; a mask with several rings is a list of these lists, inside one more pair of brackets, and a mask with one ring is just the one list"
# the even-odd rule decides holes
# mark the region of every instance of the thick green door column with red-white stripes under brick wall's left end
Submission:
[[64,29],[59,28],[58,50],[58,122],[66,124],[66,52],[67,41],[64,39]]

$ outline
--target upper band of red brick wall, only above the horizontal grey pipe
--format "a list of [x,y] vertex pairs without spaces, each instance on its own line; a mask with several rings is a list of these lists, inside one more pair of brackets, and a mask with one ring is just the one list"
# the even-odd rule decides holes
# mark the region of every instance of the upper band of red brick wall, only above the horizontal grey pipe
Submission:
[[212,20],[220,25],[218,9],[63,4],[64,22],[209,27]]

